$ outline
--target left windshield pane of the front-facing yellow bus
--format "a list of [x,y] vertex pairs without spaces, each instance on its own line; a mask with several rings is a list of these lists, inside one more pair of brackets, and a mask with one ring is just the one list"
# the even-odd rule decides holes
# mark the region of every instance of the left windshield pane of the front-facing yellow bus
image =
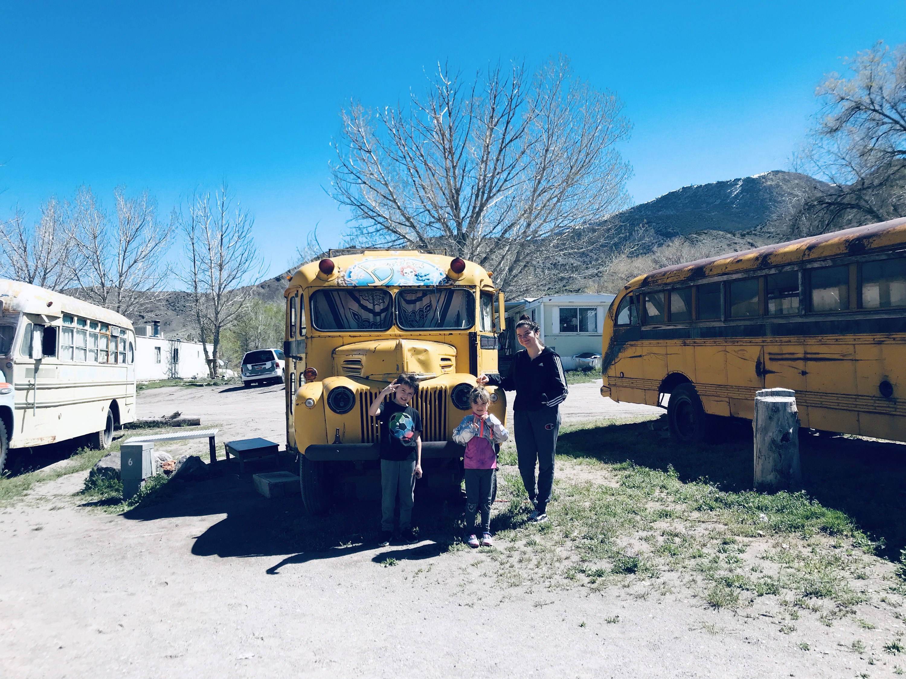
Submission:
[[392,309],[386,290],[319,290],[312,294],[316,330],[390,330]]

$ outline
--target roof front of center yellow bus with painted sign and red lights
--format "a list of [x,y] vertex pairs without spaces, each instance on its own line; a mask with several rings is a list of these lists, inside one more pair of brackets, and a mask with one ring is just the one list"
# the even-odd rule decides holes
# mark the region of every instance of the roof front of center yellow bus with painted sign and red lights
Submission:
[[419,250],[367,250],[359,254],[333,257],[334,270],[325,276],[318,262],[304,264],[290,279],[289,287],[390,287],[414,285],[481,285],[493,288],[491,273],[466,260],[463,273],[454,273],[446,254]]

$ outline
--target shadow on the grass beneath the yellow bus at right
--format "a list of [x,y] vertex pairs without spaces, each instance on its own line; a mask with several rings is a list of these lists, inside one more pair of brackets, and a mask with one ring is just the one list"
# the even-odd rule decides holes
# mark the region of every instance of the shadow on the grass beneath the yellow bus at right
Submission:
[[[557,453],[665,472],[672,465],[683,482],[707,479],[724,491],[752,489],[748,421],[719,423],[712,442],[694,446],[674,444],[666,426],[661,416],[653,422],[568,431],[560,436]],[[814,430],[801,430],[799,441],[805,493],[846,513],[872,540],[881,540],[880,556],[899,560],[906,547],[906,445]]]

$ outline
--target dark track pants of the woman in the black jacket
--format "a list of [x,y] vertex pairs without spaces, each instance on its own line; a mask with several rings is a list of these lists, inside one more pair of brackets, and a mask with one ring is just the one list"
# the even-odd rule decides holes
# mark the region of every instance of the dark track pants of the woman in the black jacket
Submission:
[[[538,410],[516,410],[513,419],[519,474],[529,498],[537,501],[538,513],[543,514],[547,511],[551,489],[554,487],[554,454],[557,450],[557,434],[560,433],[560,408],[553,406]],[[538,464],[537,482],[535,462]]]

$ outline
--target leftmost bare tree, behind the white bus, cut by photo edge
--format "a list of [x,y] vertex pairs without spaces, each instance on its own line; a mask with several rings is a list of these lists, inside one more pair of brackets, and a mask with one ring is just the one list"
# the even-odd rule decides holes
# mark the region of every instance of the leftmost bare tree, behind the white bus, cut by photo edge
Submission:
[[69,287],[75,248],[65,213],[66,206],[52,196],[41,208],[41,220],[27,226],[17,209],[0,229],[3,275],[55,291]]

